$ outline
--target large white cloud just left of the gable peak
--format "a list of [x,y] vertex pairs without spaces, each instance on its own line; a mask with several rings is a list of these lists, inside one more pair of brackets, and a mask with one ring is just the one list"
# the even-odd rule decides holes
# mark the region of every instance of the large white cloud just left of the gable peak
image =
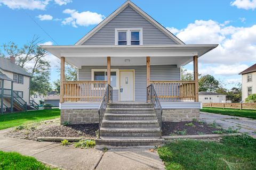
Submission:
[[65,14],[70,14],[70,17],[65,18],[61,23],[63,25],[72,25],[73,27],[77,28],[77,25],[80,26],[89,26],[93,24],[100,23],[103,19],[105,19],[104,15],[90,12],[90,11],[84,11],[79,13],[76,10],[70,10],[66,9],[63,11]]

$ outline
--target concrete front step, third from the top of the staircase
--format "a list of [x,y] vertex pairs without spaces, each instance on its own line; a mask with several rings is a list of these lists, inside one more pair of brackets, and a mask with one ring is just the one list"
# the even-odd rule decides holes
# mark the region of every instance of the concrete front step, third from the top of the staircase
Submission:
[[113,114],[105,113],[103,120],[156,120],[156,114]]

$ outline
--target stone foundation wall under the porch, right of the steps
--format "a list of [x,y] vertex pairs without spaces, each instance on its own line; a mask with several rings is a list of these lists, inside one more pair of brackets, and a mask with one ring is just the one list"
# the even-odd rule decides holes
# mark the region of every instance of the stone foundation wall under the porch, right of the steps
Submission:
[[162,122],[184,122],[199,120],[199,109],[163,109]]

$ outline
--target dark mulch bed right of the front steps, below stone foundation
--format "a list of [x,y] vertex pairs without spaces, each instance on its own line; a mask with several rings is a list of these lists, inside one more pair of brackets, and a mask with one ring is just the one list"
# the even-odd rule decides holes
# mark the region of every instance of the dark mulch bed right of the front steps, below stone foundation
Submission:
[[[193,123],[193,126],[189,126],[189,123]],[[187,125],[186,125],[187,124]],[[186,134],[181,134],[182,131],[186,131]],[[213,134],[212,131],[219,131],[218,128],[209,127],[204,122],[187,121],[187,122],[163,122],[162,123],[162,135],[195,135],[195,134]]]

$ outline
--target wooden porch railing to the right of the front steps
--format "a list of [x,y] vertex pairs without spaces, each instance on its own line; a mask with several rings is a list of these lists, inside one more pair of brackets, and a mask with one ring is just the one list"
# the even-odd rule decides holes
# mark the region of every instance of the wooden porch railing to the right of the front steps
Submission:
[[150,81],[160,101],[195,101],[195,81]]

